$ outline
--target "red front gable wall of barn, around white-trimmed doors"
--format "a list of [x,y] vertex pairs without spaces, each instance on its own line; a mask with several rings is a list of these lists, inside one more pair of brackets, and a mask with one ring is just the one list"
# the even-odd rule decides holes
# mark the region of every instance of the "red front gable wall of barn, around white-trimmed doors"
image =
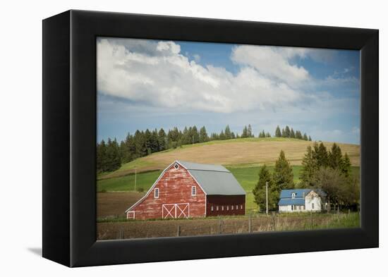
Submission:
[[[197,195],[191,195],[191,187],[197,188]],[[159,188],[159,198],[154,198],[154,189]],[[135,219],[162,218],[162,204],[189,203],[190,217],[205,216],[205,192],[195,182],[190,173],[174,165],[167,169],[162,178],[142,202],[131,209]]]

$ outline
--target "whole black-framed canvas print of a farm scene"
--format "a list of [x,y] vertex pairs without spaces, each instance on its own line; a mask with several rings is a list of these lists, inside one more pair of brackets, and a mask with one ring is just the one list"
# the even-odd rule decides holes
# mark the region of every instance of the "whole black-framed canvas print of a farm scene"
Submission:
[[377,30],[47,18],[43,257],[378,247],[377,108]]

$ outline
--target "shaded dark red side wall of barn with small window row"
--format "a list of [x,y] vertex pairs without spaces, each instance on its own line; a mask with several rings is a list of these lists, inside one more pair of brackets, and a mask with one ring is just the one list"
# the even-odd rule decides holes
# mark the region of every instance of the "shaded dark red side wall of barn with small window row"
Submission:
[[[241,205],[243,209],[241,209]],[[222,207],[224,207],[224,210],[222,210]],[[245,195],[207,195],[206,209],[207,216],[244,215]]]

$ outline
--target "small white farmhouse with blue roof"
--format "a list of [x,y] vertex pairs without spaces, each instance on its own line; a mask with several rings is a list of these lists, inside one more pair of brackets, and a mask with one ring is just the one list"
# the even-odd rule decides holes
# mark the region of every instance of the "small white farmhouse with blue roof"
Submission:
[[326,193],[316,189],[281,190],[279,212],[322,211]]

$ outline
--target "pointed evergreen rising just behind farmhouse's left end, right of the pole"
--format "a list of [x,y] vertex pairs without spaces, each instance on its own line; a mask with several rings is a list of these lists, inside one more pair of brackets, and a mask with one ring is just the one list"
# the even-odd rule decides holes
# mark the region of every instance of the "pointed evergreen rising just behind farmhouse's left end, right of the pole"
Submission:
[[272,180],[274,182],[274,189],[277,192],[294,187],[292,168],[283,150],[281,150],[279,159],[275,163]]

